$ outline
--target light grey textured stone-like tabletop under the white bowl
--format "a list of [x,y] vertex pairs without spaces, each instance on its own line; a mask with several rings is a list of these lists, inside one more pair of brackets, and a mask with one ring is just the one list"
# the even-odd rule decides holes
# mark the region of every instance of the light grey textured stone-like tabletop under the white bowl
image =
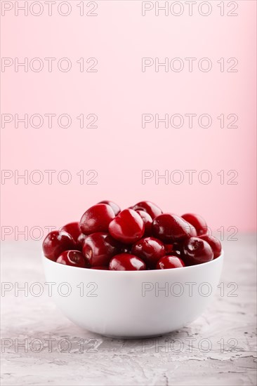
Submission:
[[[115,340],[83,331],[46,293],[26,297],[8,291],[1,299],[1,384],[256,385],[255,239],[240,236],[223,246],[224,295],[218,289],[202,317],[153,340]],[[44,283],[40,248],[37,242],[3,243],[2,281]]]

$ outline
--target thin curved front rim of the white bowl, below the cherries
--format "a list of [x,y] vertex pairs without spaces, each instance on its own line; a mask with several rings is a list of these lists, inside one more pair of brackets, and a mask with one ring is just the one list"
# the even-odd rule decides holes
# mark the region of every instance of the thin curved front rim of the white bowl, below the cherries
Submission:
[[[46,256],[44,255],[44,252],[42,251],[41,252],[41,256],[42,256],[42,259],[43,260],[48,260],[48,262],[50,262],[50,263],[53,263],[54,265],[58,265],[58,266],[63,266],[63,267],[66,267],[66,269],[68,268],[68,269],[80,269],[80,270],[83,270],[83,272],[116,272],[116,274],[117,274],[117,272],[119,272],[118,274],[121,274],[121,272],[123,273],[123,274],[135,274],[135,272],[141,272],[140,274],[143,274],[143,272],[144,272],[144,274],[150,274],[150,272],[178,272],[178,269],[180,270],[180,269],[184,269],[184,271],[185,271],[185,269],[187,269],[187,270],[189,270],[189,269],[199,269],[199,267],[206,267],[206,265],[211,265],[211,264],[216,264],[216,261],[219,261],[219,260],[223,260],[223,257],[224,257],[224,250],[222,249],[221,250],[221,253],[220,253],[220,255],[218,256],[218,258],[216,258],[216,259],[213,259],[213,260],[211,260],[211,261],[207,261],[207,262],[202,262],[201,264],[196,264],[196,265],[188,265],[187,267],[178,267],[178,268],[167,268],[167,269],[143,269],[143,270],[141,270],[141,271],[112,271],[112,270],[110,270],[110,269],[92,269],[92,268],[82,268],[82,267],[72,267],[72,265],[65,265],[65,264],[59,264],[59,263],[57,263],[57,262],[55,262],[55,261],[53,261],[53,260],[50,260],[50,259],[48,259],[48,258],[46,258]],[[183,272],[184,272],[183,271]],[[147,272],[147,273],[146,273]],[[103,273],[102,273],[103,274]]]

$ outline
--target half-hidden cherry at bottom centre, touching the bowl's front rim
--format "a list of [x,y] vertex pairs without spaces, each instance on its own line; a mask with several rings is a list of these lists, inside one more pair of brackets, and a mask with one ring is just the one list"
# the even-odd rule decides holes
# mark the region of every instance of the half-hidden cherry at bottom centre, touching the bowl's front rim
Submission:
[[109,269],[111,271],[142,271],[146,269],[146,266],[145,262],[137,256],[120,253],[112,258]]

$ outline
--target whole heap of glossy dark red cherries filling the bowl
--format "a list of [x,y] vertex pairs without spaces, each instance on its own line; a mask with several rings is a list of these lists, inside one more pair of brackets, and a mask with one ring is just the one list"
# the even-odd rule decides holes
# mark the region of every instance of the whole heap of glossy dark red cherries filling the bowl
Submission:
[[200,215],[162,213],[150,201],[121,211],[114,202],[101,201],[80,222],[49,233],[43,251],[50,260],[81,268],[179,268],[218,258],[220,241],[208,233]]

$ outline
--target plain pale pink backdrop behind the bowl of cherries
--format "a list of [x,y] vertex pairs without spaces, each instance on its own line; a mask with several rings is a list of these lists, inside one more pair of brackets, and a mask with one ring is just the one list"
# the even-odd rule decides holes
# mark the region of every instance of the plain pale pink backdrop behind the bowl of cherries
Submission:
[[[22,1],[20,1],[22,3]],[[44,3],[44,2],[42,2]],[[199,2],[198,2],[199,3]],[[1,72],[2,114],[70,114],[70,128],[1,128],[1,168],[20,173],[47,169],[72,173],[62,185],[14,178],[2,181],[1,225],[57,227],[76,220],[88,206],[103,199],[122,207],[142,199],[164,211],[201,213],[213,229],[234,226],[239,232],[256,229],[255,106],[256,2],[237,1],[236,17],[221,17],[216,1],[203,17],[180,17],[154,11],[141,15],[141,1],[97,1],[98,16],[81,17],[77,4],[62,17],[45,12],[1,17],[1,56],[70,58],[70,72]],[[98,59],[98,72],[79,72],[76,60]],[[141,71],[144,57],[204,58],[210,72]],[[238,72],[220,72],[217,60],[237,58]],[[79,128],[79,114],[97,114],[98,128]],[[210,114],[210,128],[141,127],[141,115]],[[220,128],[216,117],[237,114],[238,128]],[[80,185],[81,169],[98,172],[97,185]],[[141,182],[143,169],[163,174],[176,169],[185,180],[174,185],[154,179]],[[207,169],[209,185],[197,177],[188,183],[185,170]],[[217,173],[238,172],[237,185],[220,184]],[[231,175],[232,176],[232,175]],[[231,177],[230,176],[230,177]],[[89,176],[90,177],[90,176]],[[46,178],[46,175],[45,175]],[[227,177],[228,180],[228,177]],[[11,234],[10,238],[14,237]]]

